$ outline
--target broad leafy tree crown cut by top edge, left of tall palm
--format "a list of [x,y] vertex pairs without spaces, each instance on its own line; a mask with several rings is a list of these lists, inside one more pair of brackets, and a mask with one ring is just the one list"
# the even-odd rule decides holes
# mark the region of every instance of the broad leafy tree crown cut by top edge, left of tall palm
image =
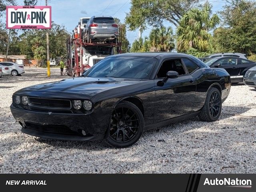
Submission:
[[178,26],[179,20],[198,0],[131,0],[130,12],[126,14],[126,24],[130,30],[146,25],[162,26],[167,20]]

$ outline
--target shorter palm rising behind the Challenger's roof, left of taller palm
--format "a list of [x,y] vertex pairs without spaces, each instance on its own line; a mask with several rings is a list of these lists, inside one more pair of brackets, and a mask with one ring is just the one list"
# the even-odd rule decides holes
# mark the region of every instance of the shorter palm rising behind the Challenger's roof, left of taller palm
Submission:
[[160,52],[166,51],[170,52],[174,49],[174,37],[171,27],[161,26],[160,28],[154,28],[149,34],[151,48],[150,51]]

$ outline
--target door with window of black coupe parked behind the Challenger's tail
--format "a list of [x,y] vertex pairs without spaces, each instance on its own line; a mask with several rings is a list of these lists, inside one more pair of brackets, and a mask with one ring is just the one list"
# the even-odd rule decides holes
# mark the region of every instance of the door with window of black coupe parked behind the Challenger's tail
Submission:
[[222,58],[214,62],[212,66],[224,68],[230,74],[230,78],[236,78],[239,73],[237,62],[238,58]]

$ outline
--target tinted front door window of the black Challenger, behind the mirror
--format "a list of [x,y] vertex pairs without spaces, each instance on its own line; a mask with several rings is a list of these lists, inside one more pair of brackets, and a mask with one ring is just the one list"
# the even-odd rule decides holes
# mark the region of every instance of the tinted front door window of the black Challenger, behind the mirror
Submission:
[[180,59],[166,60],[162,63],[156,78],[166,77],[168,71],[176,71],[179,75],[186,74]]

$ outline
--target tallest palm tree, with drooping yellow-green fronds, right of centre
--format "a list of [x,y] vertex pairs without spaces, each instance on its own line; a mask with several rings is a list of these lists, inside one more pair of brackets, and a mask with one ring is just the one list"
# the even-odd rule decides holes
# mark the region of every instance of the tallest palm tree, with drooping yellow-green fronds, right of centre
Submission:
[[212,38],[208,31],[215,28],[220,22],[217,14],[212,15],[211,8],[212,6],[206,2],[201,10],[193,8],[180,19],[176,30],[179,52],[187,52],[189,48],[207,52],[209,41]]

